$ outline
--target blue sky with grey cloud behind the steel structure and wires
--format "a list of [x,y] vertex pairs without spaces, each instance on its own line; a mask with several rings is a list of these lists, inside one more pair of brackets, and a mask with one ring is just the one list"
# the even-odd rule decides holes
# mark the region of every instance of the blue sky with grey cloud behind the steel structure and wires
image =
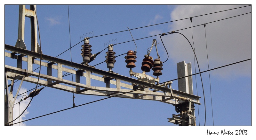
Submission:
[[[69,23],[68,5],[36,5],[36,12],[39,22],[42,52],[45,55],[55,57],[70,48],[69,24],[71,46],[73,46],[81,41],[80,36],[89,32],[93,32],[93,36],[99,36],[124,31],[128,29],[127,27],[133,29],[188,17],[194,17],[192,24],[195,26],[251,12],[252,7],[248,6],[195,17],[242,6],[245,5],[69,5]],[[18,38],[19,5],[5,5],[4,9],[4,44],[15,46]],[[193,40],[200,70],[208,70],[205,31],[210,69],[252,58],[251,23],[252,15],[249,13],[206,24],[206,30],[204,30],[203,25],[193,27]],[[185,19],[131,30],[131,33],[134,39],[140,39],[188,27],[191,27],[191,21]],[[25,21],[25,31],[25,44],[27,49],[30,50],[30,22],[28,18]],[[180,30],[179,32],[184,34],[193,45],[191,28]],[[89,37],[91,36],[89,35]],[[164,61],[167,59],[167,54],[160,36],[136,40],[135,43],[138,53],[137,62],[135,63],[137,67],[133,68],[134,72],[142,72],[140,69],[141,62],[144,58],[143,56],[147,53],[147,49],[152,45],[153,39],[156,39],[157,43],[159,43],[157,48],[161,60]],[[177,78],[177,63],[184,60],[186,63],[192,63],[192,73],[194,74],[194,54],[188,41],[179,34],[166,35],[162,39],[168,51],[169,59],[164,63],[163,75],[159,76],[160,82]],[[107,47],[105,44],[110,40],[113,40],[112,44],[116,44],[131,41],[132,37],[130,32],[127,31],[92,38],[90,39],[92,53],[103,50]],[[83,60],[80,55],[82,44],[80,43],[71,49],[72,61],[75,63],[81,63]],[[133,41],[114,46],[116,55],[127,53],[129,50],[135,50]],[[104,61],[105,52],[100,53],[90,65],[96,65]],[[154,49],[151,54],[154,59],[157,57]],[[58,58],[70,61],[70,51],[63,53]],[[126,63],[124,60],[124,55],[116,58],[115,67],[112,70],[118,74],[129,76],[129,68],[125,67]],[[13,66],[15,65],[13,62],[11,59],[5,58],[4,63],[5,65]],[[252,125],[251,63],[251,60],[249,60],[211,71],[212,95],[210,94],[209,73],[202,74],[206,102],[206,125],[212,126],[213,120],[216,126]],[[106,63],[102,63],[96,66],[96,68],[108,71]],[[196,72],[199,72],[197,66]],[[151,70],[148,75],[153,76],[152,73]],[[73,76],[75,77],[75,75]],[[17,90],[19,82],[16,83]],[[21,91],[25,92],[35,88],[35,86],[36,84],[24,82]],[[172,88],[178,90],[178,81],[173,81]],[[195,114],[196,125],[203,126],[205,113],[204,99],[199,75],[196,77],[193,76],[193,89],[194,94],[202,97],[200,99],[202,105],[199,105],[199,107],[196,105]],[[20,120],[70,108],[73,104],[72,96],[72,93],[46,87],[39,95],[33,98],[26,114]],[[105,98],[78,94],[75,94],[75,96],[76,105]],[[22,101],[20,107],[26,106],[26,103],[28,101]],[[15,108],[18,108],[16,110],[17,115],[19,113],[18,104],[15,105]],[[20,112],[22,111],[20,108]],[[174,124],[167,122],[167,118],[171,118],[172,114],[177,114],[174,106],[159,101],[110,98],[26,121],[21,125],[173,126]]]

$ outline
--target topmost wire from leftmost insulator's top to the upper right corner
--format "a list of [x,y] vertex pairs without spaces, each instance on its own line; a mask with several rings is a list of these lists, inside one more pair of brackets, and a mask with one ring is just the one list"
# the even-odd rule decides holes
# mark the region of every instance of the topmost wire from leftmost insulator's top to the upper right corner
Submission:
[[[247,5],[247,6],[252,6],[252,5]],[[243,7],[247,7],[247,6],[243,6]],[[243,8],[243,7],[237,7],[237,8],[228,9],[228,10],[234,10],[234,9]],[[208,14],[199,15],[199,16],[195,16],[195,17],[200,17],[200,16],[205,16],[205,15],[210,15],[210,14],[219,13],[219,12],[228,11],[228,10],[222,10],[222,11],[213,12],[213,13],[208,13]],[[188,17],[188,18],[190,18],[190,17]],[[184,20],[184,19],[188,19],[188,18],[183,18],[183,19],[178,19],[178,20],[173,20],[173,21],[163,22],[163,23],[159,23],[159,24],[165,24],[165,23],[170,23],[170,22],[174,22],[174,21],[180,21],[180,20]],[[145,27],[155,26],[155,25],[159,25],[159,24],[148,25],[148,26],[139,27],[139,28],[134,28],[134,29],[130,29],[130,30],[135,30],[135,29],[140,29],[140,28],[145,28]],[[126,31],[129,31],[129,30],[124,30],[124,31],[119,31],[119,32],[126,32]],[[113,32],[113,33],[103,34],[103,35],[99,35],[99,36],[95,36],[95,37],[100,37],[100,36],[110,35],[110,34],[119,33],[119,32]],[[94,37],[91,37],[91,38],[94,38]]]

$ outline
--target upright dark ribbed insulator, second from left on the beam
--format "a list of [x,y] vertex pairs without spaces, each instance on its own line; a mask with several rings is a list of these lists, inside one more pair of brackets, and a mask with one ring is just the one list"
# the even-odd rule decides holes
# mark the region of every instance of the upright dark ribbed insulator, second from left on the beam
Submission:
[[115,52],[113,52],[113,45],[109,45],[108,46],[108,52],[106,52],[107,56],[106,56],[106,60],[105,62],[107,63],[107,67],[109,69],[109,71],[112,71],[112,68],[114,68],[114,64],[116,62],[115,58]]

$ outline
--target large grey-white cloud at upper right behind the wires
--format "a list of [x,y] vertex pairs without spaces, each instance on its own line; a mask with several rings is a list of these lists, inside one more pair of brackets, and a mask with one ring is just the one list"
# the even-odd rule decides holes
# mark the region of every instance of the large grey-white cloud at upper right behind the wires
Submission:
[[[242,5],[244,6],[244,5]],[[178,20],[187,17],[208,14],[221,10],[228,10],[241,5],[179,5],[170,14],[171,20]],[[235,10],[224,11],[220,13],[194,17],[193,26],[213,22],[216,20],[233,17],[236,15],[251,12],[251,7],[245,7]],[[251,53],[251,14],[239,17],[229,18],[218,22],[206,24],[206,39],[210,69],[220,67],[226,64],[249,59]],[[191,27],[189,19],[172,22],[170,31]],[[184,34],[193,46],[191,28],[177,31]],[[194,63],[194,53],[188,41],[180,34],[175,33],[162,37],[164,45],[170,52],[170,58],[174,61],[183,61]],[[200,70],[207,70],[207,55],[204,26],[193,27],[193,39],[195,52],[199,61]],[[250,63],[241,63],[239,67],[227,69],[219,76],[227,74],[238,74],[251,77]],[[192,65],[194,66],[194,64]],[[237,65],[238,66],[238,65]],[[248,67],[250,66],[250,67]],[[214,73],[213,74],[217,74]]]

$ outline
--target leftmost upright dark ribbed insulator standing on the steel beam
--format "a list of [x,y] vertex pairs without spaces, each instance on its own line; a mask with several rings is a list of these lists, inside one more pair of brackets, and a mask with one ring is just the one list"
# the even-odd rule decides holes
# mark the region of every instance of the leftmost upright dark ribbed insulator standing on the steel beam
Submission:
[[92,51],[92,49],[91,49],[92,45],[89,45],[89,39],[85,39],[85,40],[84,40],[84,45],[82,45],[81,47],[82,47],[82,49],[81,49],[81,51],[82,51],[81,55],[83,56],[83,62],[84,62],[84,64],[88,64],[88,62],[90,61],[90,57],[91,57],[91,55],[92,55],[92,53],[91,53],[91,51]]

